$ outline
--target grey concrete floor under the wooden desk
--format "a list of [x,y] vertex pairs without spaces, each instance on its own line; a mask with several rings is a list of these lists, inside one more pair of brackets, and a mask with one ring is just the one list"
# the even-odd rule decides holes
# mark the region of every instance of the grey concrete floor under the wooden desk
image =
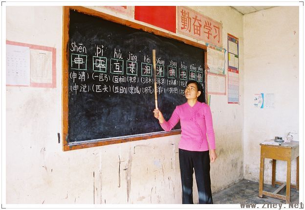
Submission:
[[[273,192],[277,187],[271,185],[263,186],[265,191]],[[286,187],[284,187],[279,194],[286,194]],[[299,191],[294,188],[290,189],[290,202],[299,204]],[[285,204],[284,200],[272,198],[263,195],[259,197],[259,183],[248,180],[241,180],[239,183],[228,187],[213,195],[214,204]]]

